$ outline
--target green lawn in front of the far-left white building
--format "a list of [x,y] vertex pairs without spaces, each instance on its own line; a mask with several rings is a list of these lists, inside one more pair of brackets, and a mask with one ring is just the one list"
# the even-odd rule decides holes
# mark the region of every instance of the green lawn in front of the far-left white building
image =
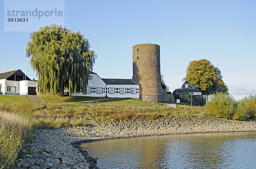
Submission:
[[0,103],[30,103],[25,95],[0,95]]

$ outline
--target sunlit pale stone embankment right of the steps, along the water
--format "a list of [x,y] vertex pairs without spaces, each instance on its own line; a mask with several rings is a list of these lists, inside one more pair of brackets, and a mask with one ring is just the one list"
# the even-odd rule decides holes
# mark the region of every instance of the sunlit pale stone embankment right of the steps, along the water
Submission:
[[122,121],[101,124],[108,134],[120,137],[195,132],[256,131],[256,121],[233,121],[215,117],[171,117],[154,121]]

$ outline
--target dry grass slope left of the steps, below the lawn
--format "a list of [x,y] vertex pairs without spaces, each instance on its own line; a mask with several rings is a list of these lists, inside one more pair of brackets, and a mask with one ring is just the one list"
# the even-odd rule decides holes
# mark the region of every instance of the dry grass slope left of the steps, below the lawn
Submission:
[[84,105],[1,104],[0,110],[35,118],[36,128],[87,126]]

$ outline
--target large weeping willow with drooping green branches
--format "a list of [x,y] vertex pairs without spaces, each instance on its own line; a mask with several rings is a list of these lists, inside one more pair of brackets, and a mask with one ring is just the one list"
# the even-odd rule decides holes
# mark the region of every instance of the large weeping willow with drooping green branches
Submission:
[[41,93],[63,95],[65,89],[86,93],[96,55],[80,31],[52,24],[30,34],[30,39],[26,57],[31,57]]

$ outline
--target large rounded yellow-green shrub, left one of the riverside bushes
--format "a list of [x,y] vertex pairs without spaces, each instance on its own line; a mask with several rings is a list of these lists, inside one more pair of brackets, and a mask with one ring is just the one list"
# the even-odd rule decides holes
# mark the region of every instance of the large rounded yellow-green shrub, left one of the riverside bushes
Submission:
[[206,104],[208,115],[218,118],[231,119],[236,110],[236,101],[233,96],[227,93],[216,93],[211,95],[209,102]]

